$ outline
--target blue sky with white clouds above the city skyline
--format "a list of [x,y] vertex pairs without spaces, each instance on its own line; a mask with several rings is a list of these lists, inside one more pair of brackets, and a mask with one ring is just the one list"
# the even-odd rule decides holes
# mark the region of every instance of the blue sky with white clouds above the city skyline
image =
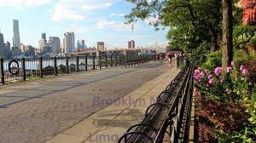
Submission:
[[165,30],[154,31],[148,20],[137,21],[134,30],[124,24],[125,14],[134,7],[125,0],[0,0],[0,31],[12,43],[12,20],[19,20],[20,42],[38,47],[41,33],[60,37],[74,31],[75,39],[84,39],[88,47],[105,42],[108,49],[166,44]]

